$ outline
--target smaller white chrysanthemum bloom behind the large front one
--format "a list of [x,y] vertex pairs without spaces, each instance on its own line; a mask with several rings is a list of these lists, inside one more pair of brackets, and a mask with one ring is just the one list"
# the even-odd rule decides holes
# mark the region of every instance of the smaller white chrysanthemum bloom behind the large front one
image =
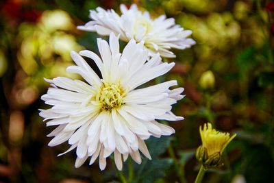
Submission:
[[175,19],[166,19],[165,15],[157,19],[151,19],[149,12],[140,12],[136,4],[129,9],[125,5],[120,6],[122,15],[119,16],[114,10],[97,8],[90,10],[90,21],[78,29],[97,32],[108,36],[111,32],[117,36],[121,34],[121,40],[129,42],[132,38],[136,42],[145,42],[149,49],[149,55],[160,53],[162,57],[175,58],[175,54],[169,49],[186,49],[195,45],[195,41],[187,38],[192,34],[190,30],[184,30],[175,25]]

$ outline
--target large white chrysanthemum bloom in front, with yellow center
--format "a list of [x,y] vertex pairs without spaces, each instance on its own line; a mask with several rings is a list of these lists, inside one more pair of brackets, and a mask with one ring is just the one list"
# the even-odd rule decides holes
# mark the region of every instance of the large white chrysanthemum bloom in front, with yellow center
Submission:
[[[53,107],[41,110],[40,116],[49,120],[47,126],[59,125],[48,135],[54,136],[49,146],[69,141],[71,147],[63,154],[77,148],[75,167],[91,156],[90,164],[99,157],[103,170],[105,158],[114,153],[116,167],[121,170],[122,160],[127,160],[128,155],[141,162],[139,150],[151,159],[144,142],[149,136],[169,136],[175,132],[156,119],[184,119],[171,112],[171,105],[184,97],[180,95],[184,88],[170,90],[169,87],[177,85],[175,80],[137,88],[174,66],[174,62],[162,62],[159,54],[147,60],[143,42],[136,44],[134,39],[130,40],[123,53],[119,53],[119,38],[114,34],[110,34],[110,45],[100,38],[97,44],[101,58],[92,51],[73,51],[71,57],[77,66],[67,68],[84,77],[88,84],[66,77],[47,80],[53,87],[41,98]],[[82,56],[94,60],[101,76]]]

